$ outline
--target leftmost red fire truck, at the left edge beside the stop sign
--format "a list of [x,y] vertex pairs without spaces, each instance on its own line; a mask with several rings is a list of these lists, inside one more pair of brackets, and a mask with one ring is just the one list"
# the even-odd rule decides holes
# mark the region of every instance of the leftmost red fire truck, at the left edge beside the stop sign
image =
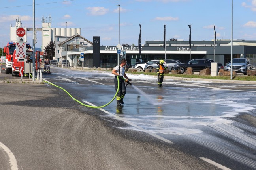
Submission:
[[8,42],[7,45],[4,47],[4,53],[6,53],[6,74],[11,74],[12,72],[12,58],[15,47],[15,42]]

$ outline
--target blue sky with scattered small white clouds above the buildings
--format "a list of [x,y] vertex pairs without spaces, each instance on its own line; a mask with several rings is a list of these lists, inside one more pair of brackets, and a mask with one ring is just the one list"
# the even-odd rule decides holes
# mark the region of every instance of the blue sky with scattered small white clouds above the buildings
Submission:
[[[10,25],[17,16],[22,26],[32,28],[32,0],[0,0],[0,43],[10,39]],[[81,28],[82,36],[92,41],[100,36],[100,45],[138,45],[139,24],[142,24],[142,44],[149,40],[175,38],[188,41],[192,25],[192,41],[231,39],[232,0],[35,0],[36,28],[42,17],[52,18],[53,28]],[[41,47],[41,32],[36,47]],[[233,0],[233,39],[256,39],[256,0]],[[32,32],[28,32],[32,44]]]

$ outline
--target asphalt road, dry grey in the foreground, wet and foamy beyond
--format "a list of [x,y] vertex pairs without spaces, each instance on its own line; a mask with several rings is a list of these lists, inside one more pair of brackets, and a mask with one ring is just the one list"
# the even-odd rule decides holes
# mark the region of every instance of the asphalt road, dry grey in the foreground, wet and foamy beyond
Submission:
[[[9,79],[6,76],[9,75],[0,74],[0,79]],[[113,96],[113,82],[106,81],[104,76],[97,77],[94,74],[81,76],[80,72],[76,76],[73,74],[70,76],[67,75],[66,71],[55,70],[53,74],[45,74],[44,78],[64,87],[81,101],[87,100],[100,105],[105,103],[105,98]],[[207,142],[202,143],[201,139],[209,142],[212,138],[210,135],[202,136],[199,139],[194,135],[188,134],[167,135],[162,133],[160,137],[173,141],[170,143],[151,135],[151,133],[131,129],[131,124],[124,121],[122,116],[127,120],[135,112],[143,116],[143,112],[148,111],[143,105],[147,102],[143,100],[139,102],[139,105],[133,104],[135,96],[138,95],[136,91],[131,91],[131,89],[129,89],[129,94],[127,94],[125,100],[126,103],[130,104],[124,106],[123,113],[120,115],[120,113],[115,112],[117,109],[113,102],[106,110],[115,114],[109,116],[106,111],[81,106],[62,89],[52,85],[17,83],[15,81],[17,77],[12,77],[11,75],[10,79],[13,79],[13,83],[0,84],[2,91],[4,91],[4,95],[1,95],[0,98],[0,129],[2,129],[0,131],[0,169],[8,170],[11,169],[11,166],[12,169],[15,169],[15,164],[17,164],[16,169],[254,169],[253,166],[247,166],[241,161],[235,161],[234,157],[229,157],[229,155],[220,152],[221,145],[216,146],[218,150],[215,150],[214,147],[209,148],[207,145],[203,145],[207,144]],[[152,95],[158,94],[159,96],[160,94],[162,96],[161,91],[158,91],[159,89],[157,88],[145,88],[154,86],[155,82],[149,81],[146,84],[141,81],[135,82],[136,86],[141,87],[141,89],[149,89],[148,93],[151,92]],[[167,82],[168,80],[166,80],[166,84]],[[223,89],[232,90],[230,86],[215,83],[183,83],[179,81],[170,81],[169,83],[171,84],[166,85],[166,90],[171,89],[171,91],[178,92],[176,88],[179,88],[179,83],[182,83],[184,92],[195,91],[196,95],[198,95],[196,89],[205,87],[217,89],[221,86]],[[252,85],[234,85],[232,88],[235,90],[234,94],[243,94],[242,91],[246,91],[248,88],[250,88],[249,94],[255,91],[255,87]],[[237,90],[241,92],[237,92]],[[106,92],[109,95],[106,96]],[[203,92],[211,94],[209,93],[211,91]],[[187,100],[191,102],[194,93],[192,92],[192,97],[187,98]],[[220,96],[221,93],[222,91],[217,92],[216,94],[218,95],[216,96]],[[230,95],[230,93],[225,94]],[[213,94],[211,95],[213,96]],[[177,102],[175,105],[179,103]],[[189,107],[188,109],[186,105],[190,106],[190,104],[183,105],[185,110],[190,112],[190,115],[200,111],[198,107],[195,108],[195,112],[194,108]],[[165,113],[165,111],[169,110],[168,103],[165,108],[158,108],[157,111],[161,110],[161,114],[167,116],[168,112]],[[149,109],[152,110],[151,107]],[[120,119],[115,115],[119,115]],[[160,118],[157,117],[158,120]],[[248,134],[244,134],[245,139],[250,136],[250,133],[254,133],[255,115],[241,114],[230,119],[249,126],[243,127],[248,132]],[[178,122],[179,120],[176,119],[175,121]],[[139,123],[144,128],[148,128],[146,126],[148,122]],[[162,124],[166,124],[166,122]],[[174,122],[172,124],[175,125]],[[156,124],[153,125],[156,126]],[[227,129],[227,127],[224,128]],[[169,127],[168,131],[173,128]],[[207,128],[209,128],[209,125],[207,125]],[[206,132],[210,132],[216,137],[215,142],[218,144],[217,140],[221,134],[209,129],[205,130],[204,133]],[[238,132],[235,131],[235,133]],[[226,133],[230,133],[230,131],[227,129]],[[250,146],[246,145],[237,148],[237,145],[241,144],[239,144],[238,140],[232,139],[233,135],[231,133],[228,137],[223,135],[219,138],[221,142],[224,142],[224,152],[233,155],[232,149],[230,151],[226,150],[229,145],[236,147],[235,150],[238,150],[238,155],[242,154],[244,149],[248,149],[247,156],[249,159],[255,160],[255,149],[251,149]],[[234,137],[239,138],[240,136]],[[230,141],[230,143],[226,143],[224,139]],[[253,137],[251,140],[248,142],[255,142]],[[209,144],[211,143],[209,142]],[[250,157],[251,155],[252,157]],[[202,157],[206,156],[209,159],[202,159]],[[211,160],[215,160],[215,162]]]

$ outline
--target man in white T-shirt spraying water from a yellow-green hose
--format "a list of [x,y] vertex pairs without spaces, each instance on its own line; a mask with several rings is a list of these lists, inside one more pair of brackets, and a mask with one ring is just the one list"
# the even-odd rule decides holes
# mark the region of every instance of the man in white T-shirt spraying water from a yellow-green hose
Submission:
[[[115,75],[114,83],[115,83],[115,89],[117,90],[118,88],[118,81],[117,81],[117,76],[119,76],[119,91],[117,92],[117,106],[121,106],[121,104],[124,104],[124,96],[126,94],[126,86],[125,82],[131,81],[125,74],[125,65],[127,61],[126,59],[122,59],[120,65],[116,66],[112,70],[112,74]],[[124,79],[125,77],[126,79]]]

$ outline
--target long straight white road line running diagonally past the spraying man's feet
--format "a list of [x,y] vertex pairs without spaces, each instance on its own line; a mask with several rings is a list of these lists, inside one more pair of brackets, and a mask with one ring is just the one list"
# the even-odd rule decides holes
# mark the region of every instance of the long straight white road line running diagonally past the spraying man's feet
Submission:
[[[90,103],[90,102],[87,102],[87,101],[85,101],[85,100],[83,100],[83,102],[85,102],[85,103],[87,103],[87,104],[89,104],[89,105],[91,105],[91,106],[96,106],[96,105],[94,105],[94,104],[92,104],[92,103]],[[137,129],[139,129],[139,130],[141,130],[141,131],[143,131],[143,132],[148,133],[149,135],[151,135],[151,136],[153,136],[153,137],[156,137],[156,138],[158,138],[158,139],[160,139],[160,140],[163,140],[164,142],[173,144],[173,142],[171,142],[171,140],[165,139],[165,138],[163,138],[163,137],[160,137],[159,135],[156,135],[156,134],[154,134],[154,133],[148,132],[146,129],[143,129],[142,127],[139,127],[139,126],[137,126],[136,124],[134,124],[134,123],[132,123],[132,122],[130,122],[130,121],[128,121],[128,120],[125,120],[125,119],[122,118],[122,117],[119,117],[119,116],[117,116],[117,115],[115,115],[115,114],[113,114],[113,113],[110,113],[109,111],[106,111],[106,110],[104,110],[104,109],[102,109],[102,108],[98,108],[98,109],[100,109],[101,111],[103,111],[103,112],[105,112],[105,113],[107,113],[107,114],[109,114],[109,115],[111,115],[111,116],[117,118],[118,120],[121,120],[121,121],[123,121],[123,122],[126,122],[127,124],[130,124],[131,126],[136,127]]]

